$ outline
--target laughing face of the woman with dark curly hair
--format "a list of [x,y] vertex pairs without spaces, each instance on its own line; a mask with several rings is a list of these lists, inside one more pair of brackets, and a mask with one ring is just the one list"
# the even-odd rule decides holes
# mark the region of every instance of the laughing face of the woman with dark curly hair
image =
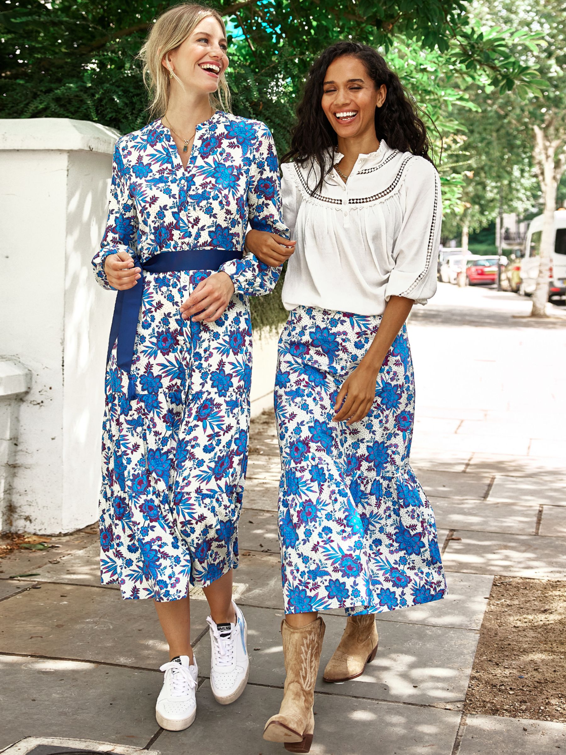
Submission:
[[322,87],[322,109],[332,128],[343,139],[375,131],[375,109],[386,98],[386,86],[376,88],[364,63],[353,55],[333,60]]

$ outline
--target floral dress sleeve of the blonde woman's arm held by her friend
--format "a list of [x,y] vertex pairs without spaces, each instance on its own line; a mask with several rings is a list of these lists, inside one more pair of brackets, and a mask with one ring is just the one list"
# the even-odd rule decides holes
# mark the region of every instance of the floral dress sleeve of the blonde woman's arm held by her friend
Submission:
[[[254,149],[255,148],[255,149]],[[257,231],[269,231],[289,238],[289,229],[283,222],[281,206],[281,180],[275,143],[269,128],[258,124],[257,140],[252,148],[254,162],[248,180],[248,220]],[[262,296],[275,287],[281,267],[269,267],[250,251],[241,260],[232,260],[220,270],[227,273],[237,294]]]

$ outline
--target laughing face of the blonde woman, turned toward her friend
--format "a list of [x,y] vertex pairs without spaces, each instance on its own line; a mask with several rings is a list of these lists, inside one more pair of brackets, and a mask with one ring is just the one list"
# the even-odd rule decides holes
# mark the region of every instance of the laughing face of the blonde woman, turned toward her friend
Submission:
[[217,91],[220,75],[228,67],[227,48],[220,23],[208,16],[179,47],[163,57],[163,65],[172,69],[186,87],[210,94]]

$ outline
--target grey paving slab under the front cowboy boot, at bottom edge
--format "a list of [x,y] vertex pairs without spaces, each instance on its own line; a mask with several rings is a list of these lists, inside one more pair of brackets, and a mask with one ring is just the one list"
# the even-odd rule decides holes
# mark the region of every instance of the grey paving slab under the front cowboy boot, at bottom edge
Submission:
[[[281,696],[281,689],[248,684],[227,715],[207,681],[198,689],[195,723],[184,732],[163,732],[152,747],[161,755],[281,755],[283,745],[262,736]],[[453,710],[339,695],[315,694],[314,710],[312,755],[451,755],[460,723],[460,713]]]

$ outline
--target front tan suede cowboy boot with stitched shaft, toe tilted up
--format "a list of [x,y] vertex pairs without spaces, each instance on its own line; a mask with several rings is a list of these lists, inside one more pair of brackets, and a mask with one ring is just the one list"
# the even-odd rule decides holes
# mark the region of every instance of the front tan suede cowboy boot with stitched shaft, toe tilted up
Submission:
[[285,656],[285,690],[283,702],[276,716],[266,723],[263,738],[270,742],[285,742],[285,750],[308,753],[315,729],[312,704],[318,663],[325,636],[325,622],[321,617],[306,627],[290,627],[281,621],[283,655]]

